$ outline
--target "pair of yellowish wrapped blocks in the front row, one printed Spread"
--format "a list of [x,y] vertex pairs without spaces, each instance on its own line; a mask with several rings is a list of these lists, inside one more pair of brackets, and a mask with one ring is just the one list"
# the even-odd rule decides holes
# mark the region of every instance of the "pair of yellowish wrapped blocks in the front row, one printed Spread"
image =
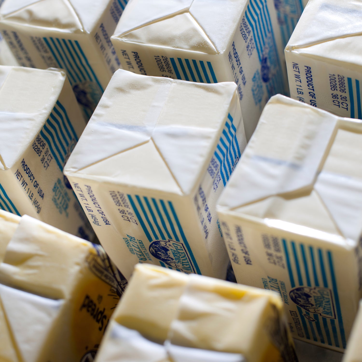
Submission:
[[147,264],[127,286],[101,247],[0,211],[1,361],[297,361],[282,304]]

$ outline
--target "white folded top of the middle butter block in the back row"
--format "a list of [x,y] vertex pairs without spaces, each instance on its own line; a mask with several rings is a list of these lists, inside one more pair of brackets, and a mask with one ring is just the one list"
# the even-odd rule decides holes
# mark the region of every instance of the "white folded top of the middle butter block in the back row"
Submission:
[[[240,14],[247,3],[247,0],[132,0],[113,36],[131,42],[143,42],[146,36],[152,45],[169,47],[176,43],[179,49],[223,53],[234,29],[239,27]],[[167,41],[169,32],[161,30],[164,26],[173,30],[171,41]],[[152,29],[157,37],[152,35]]]

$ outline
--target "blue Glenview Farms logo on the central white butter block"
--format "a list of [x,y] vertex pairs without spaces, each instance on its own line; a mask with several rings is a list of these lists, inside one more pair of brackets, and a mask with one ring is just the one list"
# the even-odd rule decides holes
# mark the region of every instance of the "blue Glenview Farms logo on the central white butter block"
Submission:
[[194,266],[184,244],[171,239],[155,240],[152,241],[149,249],[152,256],[166,265],[181,270],[184,273],[195,273]]

